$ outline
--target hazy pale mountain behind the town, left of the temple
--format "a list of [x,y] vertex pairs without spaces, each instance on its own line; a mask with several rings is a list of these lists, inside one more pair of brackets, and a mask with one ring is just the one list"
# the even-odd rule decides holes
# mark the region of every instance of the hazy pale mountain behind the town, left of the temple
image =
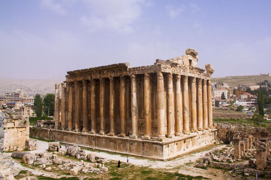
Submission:
[[[22,89],[26,94],[55,93],[55,83],[64,79],[22,79]],[[20,79],[0,78],[0,95],[20,88]]]

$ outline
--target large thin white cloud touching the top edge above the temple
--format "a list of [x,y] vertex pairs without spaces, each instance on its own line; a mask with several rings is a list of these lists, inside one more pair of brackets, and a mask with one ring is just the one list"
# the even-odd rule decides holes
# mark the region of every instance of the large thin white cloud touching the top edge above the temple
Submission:
[[90,31],[110,30],[116,32],[133,32],[132,23],[142,13],[140,0],[84,0],[89,14],[80,18]]

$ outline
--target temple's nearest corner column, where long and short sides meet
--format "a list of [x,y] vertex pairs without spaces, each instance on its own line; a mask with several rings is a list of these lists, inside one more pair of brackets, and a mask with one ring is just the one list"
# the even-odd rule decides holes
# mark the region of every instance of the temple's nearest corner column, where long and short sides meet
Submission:
[[165,93],[163,73],[157,72],[157,125],[158,140],[165,140]]

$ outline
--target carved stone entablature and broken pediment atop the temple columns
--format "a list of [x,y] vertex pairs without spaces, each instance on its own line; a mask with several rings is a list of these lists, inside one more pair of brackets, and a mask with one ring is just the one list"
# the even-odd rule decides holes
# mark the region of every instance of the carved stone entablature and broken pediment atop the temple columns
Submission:
[[[197,67],[197,55],[198,52],[195,49],[187,49],[186,55],[168,60],[156,59],[154,65],[149,66],[130,68],[130,63],[119,63],[100,67],[92,67],[88,69],[74,70],[67,72],[68,75],[66,75],[66,81],[76,82],[82,81],[84,79],[91,80],[99,78],[110,78],[111,76],[128,77],[132,74],[144,75],[145,73],[150,74],[150,76],[154,76],[154,74],[157,72],[164,74],[180,74],[182,76],[196,77],[207,80],[211,79],[211,74],[214,72],[212,66],[210,64],[205,65],[207,73],[204,73],[205,69]],[[127,81],[130,80],[129,78],[126,79]]]

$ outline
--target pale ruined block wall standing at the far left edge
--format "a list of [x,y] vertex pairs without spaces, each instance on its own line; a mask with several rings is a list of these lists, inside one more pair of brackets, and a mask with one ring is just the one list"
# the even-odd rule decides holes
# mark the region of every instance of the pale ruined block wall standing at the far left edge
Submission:
[[9,115],[5,113],[4,150],[22,151],[25,149],[25,141],[29,139],[29,117],[25,115]]

